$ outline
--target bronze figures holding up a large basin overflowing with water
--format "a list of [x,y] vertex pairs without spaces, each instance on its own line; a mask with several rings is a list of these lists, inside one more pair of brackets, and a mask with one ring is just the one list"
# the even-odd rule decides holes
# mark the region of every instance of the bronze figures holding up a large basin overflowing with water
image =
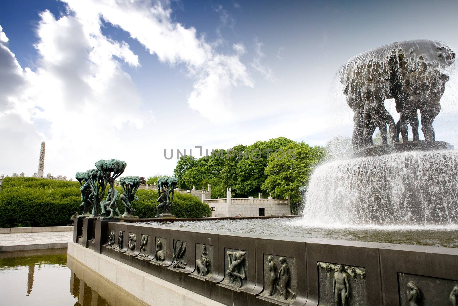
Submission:
[[[353,146],[359,150],[373,145],[378,127],[387,144],[387,126],[393,143],[419,140],[417,110],[425,140],[435,140],[432,122],[441,109],[440,99],[449,80],[445,70],[455,61],[456,53],[447,44],[433,40],[409,40],[384,45],[361,53],[340,69],[347,104],[354,111]],[[385,99],[395,99],[399,121],[384,106]]]

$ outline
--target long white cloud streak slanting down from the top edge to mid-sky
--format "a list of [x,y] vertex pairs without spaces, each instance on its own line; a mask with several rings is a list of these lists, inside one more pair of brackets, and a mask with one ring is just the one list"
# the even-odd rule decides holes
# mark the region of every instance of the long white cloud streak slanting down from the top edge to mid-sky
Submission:
[[[94,24],[101,16],[106,22],[127,31],[151,54],[156,54],[159,61],[171,66],[185,64],[188,75],[195,79],[194,90],[188,99],[189,106],[212,121],[215,121],[221,110],[231,113],[231,88],[238,85],[253,86],[253,81],[238,57],[216,52],[204,37],[197,37],[195,28],[185,28],[173,22],[171,10],[160,2],[153,6],[145,0],[65,2],[83,20],[83,24],[97,28],[99,26]],[[218,6],[215,10],[220,13],[223,25],[233,24],[233,19],[222,7]],[[227,65],[228,62],[231,65]],[[219,120],[226,119],[224,117]]]

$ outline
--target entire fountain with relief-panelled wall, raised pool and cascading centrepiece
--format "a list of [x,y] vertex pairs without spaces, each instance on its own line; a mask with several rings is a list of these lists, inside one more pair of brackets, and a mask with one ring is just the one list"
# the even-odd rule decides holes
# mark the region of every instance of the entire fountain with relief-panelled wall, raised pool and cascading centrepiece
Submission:
[[[170,180],[158,199],[162,218],[75,218],[69,256],[151,305],[185,305],[190,291],[224,305],[457,305],[458,154],[436,141],[432,126],[455,57],[446,44],[417,40],[342,67],[355,153],[316,169],[304,219],[167,219]],[[397,123],[386,98],[396,100]]]

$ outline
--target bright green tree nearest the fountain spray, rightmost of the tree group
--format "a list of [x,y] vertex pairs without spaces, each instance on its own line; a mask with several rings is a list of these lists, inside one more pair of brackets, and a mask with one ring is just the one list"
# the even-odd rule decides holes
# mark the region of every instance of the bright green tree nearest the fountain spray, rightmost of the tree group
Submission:
[[291,142],[282,148],[285,158],[269,156],[265,174],[267,178],[262,189],[276,198],[290,197],[291,212],[297,214],[302,209],[299,187],[308,184],[313,167],[326,157],[323,147],[311,147],[304,142]]

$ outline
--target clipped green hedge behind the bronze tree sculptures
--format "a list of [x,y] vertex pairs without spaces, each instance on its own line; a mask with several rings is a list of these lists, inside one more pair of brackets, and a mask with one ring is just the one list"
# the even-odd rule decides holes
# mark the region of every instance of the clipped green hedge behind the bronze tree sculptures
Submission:
[[[157,191],[138,190],[137,196],[139,200],[132,203],[136,209],[134,215],[154,217]],[[80,204],[78,182],[7,177],[0,191],[0,228],[65,226],[74,212],[82,212]],[[120,202],[118,206],[123,213],[124,206]],[[211,214],[210,208],[196,197],[179,193],[174,194],[171,212],[179,218],[209,217]]]

